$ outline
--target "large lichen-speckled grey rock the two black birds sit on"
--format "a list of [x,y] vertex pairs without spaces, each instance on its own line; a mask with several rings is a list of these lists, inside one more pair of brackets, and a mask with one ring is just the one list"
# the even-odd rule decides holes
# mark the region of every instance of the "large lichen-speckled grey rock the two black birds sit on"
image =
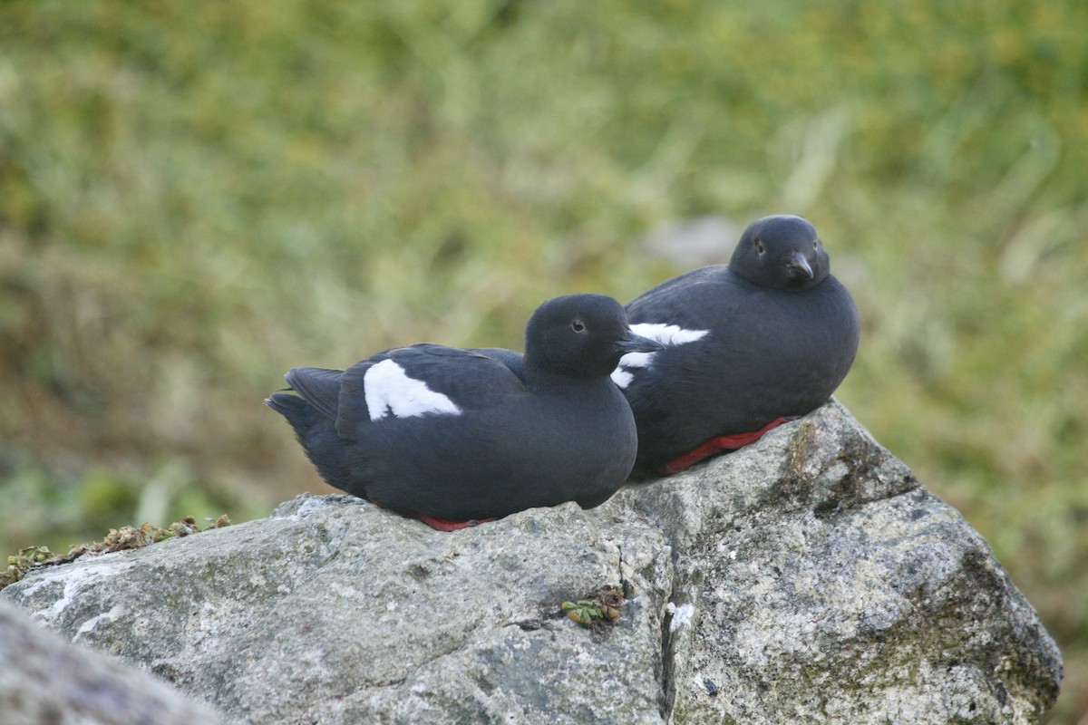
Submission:
[[[561,614],[608,585],[614,624]],[[237,722],[1031,723],[1061,679],[981,537],[838,403],[591,511],[446,534],[304,496],[0,596]]]

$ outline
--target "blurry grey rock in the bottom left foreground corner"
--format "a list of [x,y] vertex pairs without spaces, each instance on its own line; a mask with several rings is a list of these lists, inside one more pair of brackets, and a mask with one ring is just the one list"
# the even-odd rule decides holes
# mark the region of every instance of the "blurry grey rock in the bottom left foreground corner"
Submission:
[[0,601],[4,725],[200,725],[222,722],[170,685],[46,632]]

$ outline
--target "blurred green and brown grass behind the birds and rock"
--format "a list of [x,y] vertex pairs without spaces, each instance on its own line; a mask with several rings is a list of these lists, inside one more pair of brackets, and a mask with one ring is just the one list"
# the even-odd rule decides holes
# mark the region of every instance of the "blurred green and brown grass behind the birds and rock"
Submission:
[[[1088,4],[0,4],[0,545],[327,492],[292,365],[520,348],[803,214],[838,396],[986,536],[1088,722]],[[724,260],[722,260],[724,261]]]

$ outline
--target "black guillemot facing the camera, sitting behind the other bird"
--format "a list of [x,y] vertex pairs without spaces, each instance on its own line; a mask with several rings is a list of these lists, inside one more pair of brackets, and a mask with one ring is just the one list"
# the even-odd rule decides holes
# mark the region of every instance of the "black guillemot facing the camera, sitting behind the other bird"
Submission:
[[627,304],[666,346],[613,379],[639,427],[633,476],[675,473],[827,402],[857,351],[857,310],[800,216],[756,220],[728,265],[693,270]]

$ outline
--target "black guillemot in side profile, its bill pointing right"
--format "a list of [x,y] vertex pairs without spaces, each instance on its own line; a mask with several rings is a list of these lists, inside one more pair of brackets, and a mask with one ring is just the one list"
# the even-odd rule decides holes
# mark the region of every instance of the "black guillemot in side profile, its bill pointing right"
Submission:
[[607,500],[634,463],[634,418],[609,379],[663,350],[603,295],[551,299],[526,352],[420,343],[346,371],[295,367],[273,393],[331,486],[444,530],[533,507]]

